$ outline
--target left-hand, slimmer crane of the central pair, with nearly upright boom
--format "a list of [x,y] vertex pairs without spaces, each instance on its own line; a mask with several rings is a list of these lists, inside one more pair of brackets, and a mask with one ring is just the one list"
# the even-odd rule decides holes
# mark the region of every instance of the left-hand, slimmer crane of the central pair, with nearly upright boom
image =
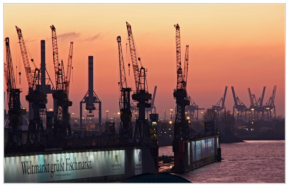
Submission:
[[116,41],[118,43],[118,59],[119,59],[119,72],[120,72],[120,92],[119,109],[121,113],[121,122],[119,127],[119,134],[123,136],[126,143],[132,140],[132,125],[131,125],[131,110],[130,110],[130,92],[131,88],[127,88],[127,82],[125,78],[125,68],[123,63],[123,52],[121,49],[121,37],[117,36]]

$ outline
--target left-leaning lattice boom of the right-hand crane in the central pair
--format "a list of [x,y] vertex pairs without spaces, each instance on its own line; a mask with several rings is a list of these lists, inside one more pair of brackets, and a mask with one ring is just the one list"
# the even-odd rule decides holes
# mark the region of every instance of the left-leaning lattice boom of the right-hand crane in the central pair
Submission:
[[131,25],[129,25],[129,23],[127,23],[127,22],[126,22],[126,24],[127,24],[127,34],[128,34],[128,40],[129,40],[129,49],[130,49],[130,54],[131,54],[131,62],[132,62],[133,70],[134,70],[134,79],[136,82],[136,90],[138,92],[140,80],[139,80],[139,68],[138,68],[137,59],[140,61],[140,58],[137,58],[137,56],[136,56],[136,47],[134,45],[134,38],[132,36]]

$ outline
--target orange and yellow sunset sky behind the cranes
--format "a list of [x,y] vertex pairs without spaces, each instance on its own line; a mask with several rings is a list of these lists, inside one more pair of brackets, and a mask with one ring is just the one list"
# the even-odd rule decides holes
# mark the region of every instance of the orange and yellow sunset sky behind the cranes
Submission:
[[[216,105],[225,86],[227,110],[232,111],[234,106],[231,86],[247,108],[248,88],[258,99],[266,86],[265,104],[277,85],[276,116],[285,116],[285,4],[4,4],[3,40],[10,38],[16,87],[23,89],[22,106],[28,108],[28,83],[15,26],[22,30],[27,50],[38,67],[40,40],[45,40],[46,66],[54,86],[50,26],[56,28],[59,59],[63,59],[65,70],[73,41],[69,90],[73,105],[69,112],[75,113],[74,117],[79,117],[79,102],[88,90],[88,56],[93,56],[94,91],[102,103],[102,116],[108,110],[108,116],[113,117],[119,112],[120,95],[117,36],[122,39],[128,87],[136,89],[132,66],[128,75],[131,60],[126,48],[126,21],[148,70],[149,92],[153,94],[157,86],[155,107],[159,118],[164,117],[164,110],[175,111],[176,106],[175,24],[180,26],[182,67],[189,45],[187,93],[199,108]],[[5,84],[3,88],[5,91]],[[53,108],[52,101],[48,95],[47,109]],[[8,110],[6,94],[4,108]]]

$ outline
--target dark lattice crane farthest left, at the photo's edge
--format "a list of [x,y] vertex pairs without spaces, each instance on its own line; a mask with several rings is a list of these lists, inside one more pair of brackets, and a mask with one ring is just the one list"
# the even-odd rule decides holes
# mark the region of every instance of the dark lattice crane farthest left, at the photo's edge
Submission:
[[7,86],[8,95],[8,145],[18,146],[22,142],[22,114],[26,113],[26,110],[21,108],[20,93],[22,89],[17,89],[14,79],[11,51],[9,46],[9,38],[5,38],[6,46],[6,64],[4,63],[4,77]]

